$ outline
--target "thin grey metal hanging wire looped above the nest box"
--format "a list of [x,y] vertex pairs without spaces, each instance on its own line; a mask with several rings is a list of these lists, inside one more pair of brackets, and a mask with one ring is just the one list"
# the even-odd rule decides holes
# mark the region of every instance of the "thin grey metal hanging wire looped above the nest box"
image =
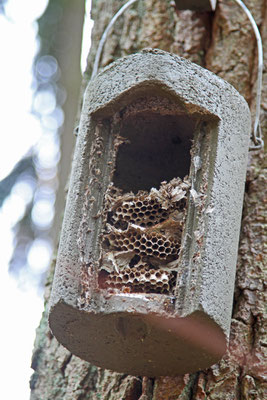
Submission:
[[[104,47],[104,44],[106,42],[107,36],[117,21],[117,19],[124,13],[127,8],[129,8],[132,4],[136,3],[138,0],[129,0],[127,3],[125,3],[119,11],[113,16],[111,21],[109,22],[108,26],[106,27],[95,56],[95,61],[93,65],[93,72],[91,78],[94,78],[95,75],[97,74],[98,67],[99,67],[99,61],[100,57],[102,54],[102,50]],[[264,141],[262,139],[262,134],[261,134],[261,126],[260,126],[260,105],[261,105],[261,91],[262,91],[262,71],[263,71],[263,49],[262,49],[262,40],[261,40],[261,35],[258,30],[257,24],[249,11],[249,9],[245,6],[243,1],[241,0],[234,0],[246,13],[247,17],[249,18],[249,21],[251,22],[251,25],[253,27],[256,40],[257,40],[257,47],[258,47],[258,77],[257,77],[257,94],[256,94],[256,115],[255,115],[255,121],[254,121],[254,128],[252,131],[251,139],[254,142],[253,146],[250,146],[250,150],[259,150],[264,146]]]

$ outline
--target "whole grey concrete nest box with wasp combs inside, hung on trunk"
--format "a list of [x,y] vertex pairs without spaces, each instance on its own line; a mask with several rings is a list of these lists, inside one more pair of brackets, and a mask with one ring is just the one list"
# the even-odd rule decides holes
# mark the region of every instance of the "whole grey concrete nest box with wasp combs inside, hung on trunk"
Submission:
[[131,375],[216,363],[229,335],[250,111],[227,82],[160,50],[88,85],[49,323]]

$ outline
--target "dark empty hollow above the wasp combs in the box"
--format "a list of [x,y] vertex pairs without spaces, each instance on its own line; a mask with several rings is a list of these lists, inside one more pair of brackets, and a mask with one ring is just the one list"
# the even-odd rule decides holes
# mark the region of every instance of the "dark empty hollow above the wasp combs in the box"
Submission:
[[125,118],[126,139],[117,155],[113,182],[124,192],[159,188],[189,174],[194,121],[186,115],[139,112]]

